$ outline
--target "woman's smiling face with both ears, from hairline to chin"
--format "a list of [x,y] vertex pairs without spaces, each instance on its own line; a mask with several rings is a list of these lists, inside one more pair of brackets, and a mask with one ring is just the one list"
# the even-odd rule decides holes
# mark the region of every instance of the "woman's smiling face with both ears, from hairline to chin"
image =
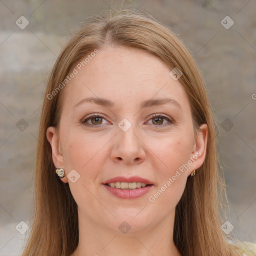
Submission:
[[195,139],[185,91],[147,52],[107,47],[76,69],[62,91],[59,130],[47,129],[61,180],[80,218],[117,232],[150,231],[173,218],[187,176],[202,164],[206,124]]

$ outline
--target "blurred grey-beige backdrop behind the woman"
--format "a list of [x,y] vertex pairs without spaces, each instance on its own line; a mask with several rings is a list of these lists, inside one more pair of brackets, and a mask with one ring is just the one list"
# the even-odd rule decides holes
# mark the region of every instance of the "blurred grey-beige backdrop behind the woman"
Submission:
[[0,255],[20,255],[29,232],[38,122],[50,69],[71,29],[110,7],[148,12],[191,50],[219,125],[230,206],[226,223],[234,237],[255,243],[255,0],[0,0]]

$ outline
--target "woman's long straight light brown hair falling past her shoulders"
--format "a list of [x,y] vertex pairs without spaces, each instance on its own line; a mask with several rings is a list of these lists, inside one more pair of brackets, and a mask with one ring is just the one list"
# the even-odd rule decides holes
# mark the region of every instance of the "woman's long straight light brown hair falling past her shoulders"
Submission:
[[189,99],[194,130],[206,123],[208,142],[203,164],[192,179],[187,178],[176,205],[173,240],[183,256],[239,255],[220,229],[223,222],[219,217],[219,194],[223,194],[223,180],[216,151],[217,125],[199,68],[174,32],[148,13],[133,9],[89,16],[54,64],[45,90],[38,132],[32,227],[22,255],[69,256],[77,247],[77,205],[68,183],[56,177],[46,129],[59,124],[60,95],[64,88],[59,91],[56,88],[82,56],[105,45],[123,45],[150,52],[170,70],[178,67],[182,71],[179,82]]

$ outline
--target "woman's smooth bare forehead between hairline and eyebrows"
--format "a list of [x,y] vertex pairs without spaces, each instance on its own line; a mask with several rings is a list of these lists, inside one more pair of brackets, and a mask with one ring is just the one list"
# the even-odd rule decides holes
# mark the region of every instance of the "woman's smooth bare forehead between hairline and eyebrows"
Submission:
[[179,81],[169,76],[170,69],[153,54],[118,46],[99,49],[94,57],[81,65],[84,59],[82,57],[75,65],[77,74],[65,88],[64,98],[69,102],[93,96],[119,101],[120,104],[128,98],[129,102],[139,104],[138,101],[152,97],[171,96],[189,107]]

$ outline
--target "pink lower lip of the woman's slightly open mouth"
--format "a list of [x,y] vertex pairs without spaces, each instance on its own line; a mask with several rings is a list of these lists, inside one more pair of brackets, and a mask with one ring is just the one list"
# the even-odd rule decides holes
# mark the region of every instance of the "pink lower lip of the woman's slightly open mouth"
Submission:
[[105,184],[103,185],[111,194],[121,199],[133,199],[133,198],[142,196],[146,194],[153,186],[153,185],[148,185],[148,186],[144,186],[136,189],[121,189],[121,188],[111,187]]

